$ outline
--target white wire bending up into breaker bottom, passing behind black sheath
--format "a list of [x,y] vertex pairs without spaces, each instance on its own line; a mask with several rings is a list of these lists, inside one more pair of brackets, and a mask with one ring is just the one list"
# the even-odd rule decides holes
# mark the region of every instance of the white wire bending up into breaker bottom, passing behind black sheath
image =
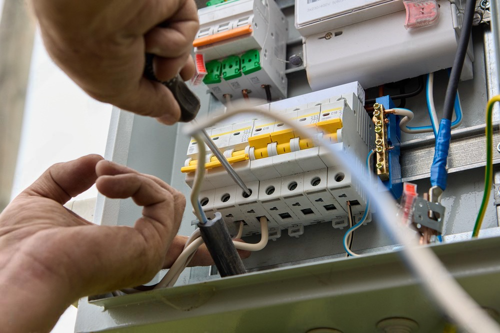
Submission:
[[[197,233],[199,234],[199,229],[196,230]],[[196,233],[196,230],[191,234],[191,236],[194,235],[194,233]],[[269,231],[267,230],[267,218],[265,216],[262,216],[260,218],[260,234],[261,234],[260,241],[258,243],[248,244],[243,242],[232,241],[232,244],[234,244],[234,247],[238,250],[243,250],[243,251],[262,250],[267,245],[267,241],[269,240]],[[186,242],[186,245],[184,245],[184,250],[182,250],[177,259],[175,259],[175,262],[172,264],[168,272],[166,272],[165,276],[161,279],[161,281],[158,282],[158,284],[154,287],[154,289],[161,289],[173,286],[177,281],[178,277],[180,276],[180,273],[182,273],[182,271],[187,267],[187,265],[189,265],[189,262],[194,256],[194,253],[201,246],[201,244],[203,244],[203,239],[199,236],[198,238],[193,239],[190,244]]]

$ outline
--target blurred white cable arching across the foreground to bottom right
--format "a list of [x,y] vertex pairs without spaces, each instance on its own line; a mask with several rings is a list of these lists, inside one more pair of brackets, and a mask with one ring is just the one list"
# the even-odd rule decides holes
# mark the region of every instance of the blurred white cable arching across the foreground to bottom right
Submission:
[[[265,104],[266,102],[262,102]],[[241,105],[239,103],[239,105]],[[356,167],[356,160],[349,154],[335,150],[332,145],[319,138],[316,131],[311,128],[297,127],[295,122],[290,121],[280,114],[269,112],[258,108],[249,108],[247,105],[237,107],[233,103],[230,110],[218,117],[211,117],[199,122],[196,126],[187,127],[186,134],[192,135],[203,128],[214,125],[237,113],[260,114],[264,117],[273,117],[277,121],[293,128],[300,137],[311,138],[315,145],[330,152],[328,156],[332,161],[350,170],[359,185],[366,191],[372,204],[380,214],[380,223],[397,244],[401,244],[401,256],[407,263],[418,281],[427,289],[434,301],[444,313],[469,333],[500,333],[500,327],[493,321],[478,305],[465,293],[458,283],[451,277],[434,253],[425,246],[419,246],[412,237],[408,228],[403,228],[396,215],[397,209],[394,200],[386,192],[378,192],[369,182],[367,176]]]

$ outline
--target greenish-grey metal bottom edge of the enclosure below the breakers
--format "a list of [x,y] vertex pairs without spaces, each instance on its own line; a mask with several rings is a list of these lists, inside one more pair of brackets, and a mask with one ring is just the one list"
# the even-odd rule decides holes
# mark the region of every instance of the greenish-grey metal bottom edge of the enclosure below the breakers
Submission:
[[[500,250],[498,238],[432,250],[480,305],[500,309],[500,257],[492,255]],[[394,252],[82,301],[79,307],[85,318],[78,318],[75,332],[376,332],[381,319],[407,317],[419,324],[416,332],[438,333],[445,321]]]

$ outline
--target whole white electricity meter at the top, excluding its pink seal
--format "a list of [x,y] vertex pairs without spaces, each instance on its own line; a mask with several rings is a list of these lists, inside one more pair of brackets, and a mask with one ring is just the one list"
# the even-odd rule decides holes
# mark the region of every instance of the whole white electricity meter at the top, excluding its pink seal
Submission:
[[[310,87],[357,80],[368,88],[451,67],[461,2],[439,0],[433,24],[407,28],[401,0],[296,0],[295,26],[303,36]],[[462,80],[472,78],[471,44]]]

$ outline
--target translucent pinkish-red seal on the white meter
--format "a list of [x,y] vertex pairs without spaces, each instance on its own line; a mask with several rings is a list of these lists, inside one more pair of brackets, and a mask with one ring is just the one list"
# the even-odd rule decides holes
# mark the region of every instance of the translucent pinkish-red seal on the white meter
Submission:
[[432,25],[439,18],[436,0],[403,0],[403,4],[406,8],[406,29]]

